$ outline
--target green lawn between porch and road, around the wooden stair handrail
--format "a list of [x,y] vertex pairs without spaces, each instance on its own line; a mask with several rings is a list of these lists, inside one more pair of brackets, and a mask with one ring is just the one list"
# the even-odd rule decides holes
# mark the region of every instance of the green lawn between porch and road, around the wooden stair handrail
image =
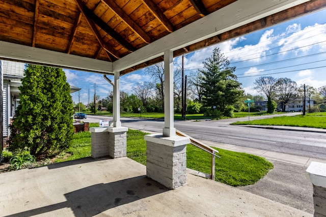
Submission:
[[[146,165],[146,133],[137,130],[127,132],[127,157]],[[214,147],[213,147],[214,148]],[[220,153],[221,159],[215,160],[215,180],[234,187],[254,184],[273,165],[264,158],[252,154],[215,148]],[[187,145],[187,168],[210,174],[211,156],[209,153]]]

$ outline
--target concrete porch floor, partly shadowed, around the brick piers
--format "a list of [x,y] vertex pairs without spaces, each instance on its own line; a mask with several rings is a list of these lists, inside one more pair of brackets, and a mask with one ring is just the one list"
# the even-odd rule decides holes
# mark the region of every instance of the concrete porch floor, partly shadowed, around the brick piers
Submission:
[[0,174],[1,216],[312,216],[202,177],[169,190],[128,158],[85,158]]

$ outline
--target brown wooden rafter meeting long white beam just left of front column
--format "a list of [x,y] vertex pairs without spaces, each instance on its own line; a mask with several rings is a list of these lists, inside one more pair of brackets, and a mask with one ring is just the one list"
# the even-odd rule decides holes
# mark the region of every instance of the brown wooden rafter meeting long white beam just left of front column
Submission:
[[117,15],[135,32],[145,43],[151,43],[151,38],[145,31],[135,23],[113,0],[102,0],[108,7],[110,7]]

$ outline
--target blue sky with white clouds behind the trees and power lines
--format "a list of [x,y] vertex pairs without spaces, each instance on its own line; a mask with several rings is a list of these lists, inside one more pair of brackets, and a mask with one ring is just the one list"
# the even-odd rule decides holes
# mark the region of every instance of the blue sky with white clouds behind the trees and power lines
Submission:
[[[260,76],[286,77],[298,85],[315,88],[326,85],[326,10],[186,54],[184,73],[189,75],[201,69],[215,47],[228,57],[230,66],[236,67],[234,74],[246,93],[257,95],[253,84]],[[174,61],[181,66],[182,57],[176,57]],[[84,104],[93,100],[95,83],[96,95],[100,98],[105,98],[112,90],[101,74],[64,71],[70,85],[82,88],[79,97]],[[113,76],[108,77],[113,80]],[[120,87],[132,94],[135,83],[146,80],[150,77],[142,69],[122,76]],[[78,103],[78,92],[71,95]]]

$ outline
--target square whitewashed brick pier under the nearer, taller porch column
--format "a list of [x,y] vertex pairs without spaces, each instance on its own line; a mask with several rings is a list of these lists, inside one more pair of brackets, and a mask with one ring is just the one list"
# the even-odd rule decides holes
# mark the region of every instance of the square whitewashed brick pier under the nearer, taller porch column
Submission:
[[149,178],[177,189],[186,183],[187,137],[163,137],[162,134],[145,135],[146,174]]

